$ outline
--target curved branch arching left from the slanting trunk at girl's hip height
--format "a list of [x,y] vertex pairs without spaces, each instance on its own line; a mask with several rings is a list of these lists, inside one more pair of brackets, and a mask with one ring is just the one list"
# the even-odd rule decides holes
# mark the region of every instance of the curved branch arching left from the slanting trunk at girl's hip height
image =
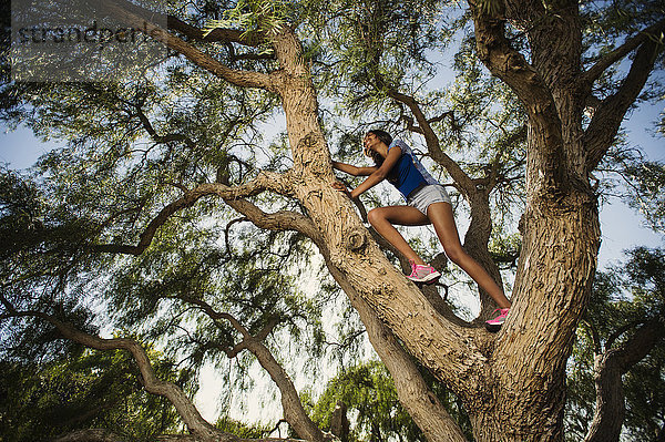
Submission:
[[239,186],[226,186],[221,183],[201,184],[192,191],[185,192],[182,197],[164,207],[143,230],[137,245],[104,244],[94,246],[93,250],[101,253],[141,255],[152,243],[157,229],[162,227],[173,214],[184,208],[192,207],[204,196],[221,196],[222,198],[227,199],[231,205],[231,203],[239,201],[236,198],[255,196],[267,189],[283,195],[290,192],[284,175],[269,172],[262,172],[252,182]]

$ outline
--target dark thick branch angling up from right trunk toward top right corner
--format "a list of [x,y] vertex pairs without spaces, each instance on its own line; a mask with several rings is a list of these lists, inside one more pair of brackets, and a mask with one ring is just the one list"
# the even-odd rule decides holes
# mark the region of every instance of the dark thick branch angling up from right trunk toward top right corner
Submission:
[[616,93],[603,100],[596,109],[583,138],[587,150],[587,171],[591,172],[597,167],[614,143],[614,137],[626,112],[642,92],[654,68],[656,56],[664,47],[662,40],[644,39]]

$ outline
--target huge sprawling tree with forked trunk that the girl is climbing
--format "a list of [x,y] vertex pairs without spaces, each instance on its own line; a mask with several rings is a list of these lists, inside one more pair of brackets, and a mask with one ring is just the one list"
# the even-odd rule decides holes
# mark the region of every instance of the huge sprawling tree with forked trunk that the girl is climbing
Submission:
[[[161,81],[7,83],[4,117],[62,136],[70,147],[41,161],[41,192],[28,186],[22,205],[3,203],[3,218],[20,225],[21,239],[6,234],[2,319],[21,327],[37,318],[79,343],[130,351],[146,390],[172,401],[190,432],[232,440],[201,418],[182,389],[154,377],[135,340],[80,329],[90,312],[72,310],[71,300],[95,286],[121,323],[133,327],[166,309],[155,333],[187,326],[183,339],[195,343],[193,361],[247,349],[278,386],[295,432],[323,440],[263,342],[279,329],[294,331],[320,307],[290,288],[280,290],[289,275],[279,270],[293,263],[285,251],[294,247],[303,258],[306,238],[356,309],[428,440],[466,438],[413,358],[463,403],[477,441],[563,440],[566,360],[600,245],[592,173],[662,63],[658,4],[470,1],[452,24],[433,20],[452,8],[434,1],[174,4],[168,30],[144,28],[172,51]],[[142,27],[134,7],[109,8]],[[232,12],[224,16],[226,10]],[[219,18],[225,20],[211,22]],[[452,34],[469,20],[473,37],[466,49],[519,103],[500,140],[481,152],[482,167],[462,167],[443,147],[442,141],[456,140],[459,122],[454,112],[430,116],[429,100],[441,94],[418,94],[437,32]],[[338,47],[307,39],[307,30],[323,25],[340,37]],[[591,32],[594,27],[605,30],[604,41]],[[622,61],[627,73],[614,72]],[[330,79],[339,81],[325,83]],[[331,188],[318,94],[326,84],[335,88],[328,94],[352,91],[357,106],[350,111],[399,115],[422,136],[470,207],[464,246],[498,281],[490,195],[521,179],[514,307],[498,335],[474,327],[493,309],[487,296],[480,294],[477,321],[458,318],[395,268],[355,204]],[[277,105],[286,121],[284,145],[266,155],[253,152],[247,146],[256,145],[258,123]],[[277,233],[249,234],[269,253],[215,244],[221,219],[229,219],[226,206],[241,214],[227,234],[241,220]],[[316,330],[310,336],[316,348]]]

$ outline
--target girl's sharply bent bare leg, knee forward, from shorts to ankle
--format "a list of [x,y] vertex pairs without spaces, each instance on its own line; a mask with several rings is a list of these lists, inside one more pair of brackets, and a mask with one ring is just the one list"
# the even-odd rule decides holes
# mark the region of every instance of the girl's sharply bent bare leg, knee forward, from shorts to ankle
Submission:
[[430,224],[430,220],[422,212],[410,206],[377,207],[369,210],[367,219],[379,235],[392,244],[408,259],[412,259],[416,264],[424,265],[424,261],[413,251],[409,243],[406,241],[393,226],[393,224],[401,226],[423,226]]

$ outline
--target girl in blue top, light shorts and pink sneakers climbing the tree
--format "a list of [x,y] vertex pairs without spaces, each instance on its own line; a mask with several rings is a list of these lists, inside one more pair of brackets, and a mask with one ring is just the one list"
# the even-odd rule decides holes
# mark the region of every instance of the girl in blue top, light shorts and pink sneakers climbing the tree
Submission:
[[413,251],[393,224],[402,226],[423,226],[431,224],[451,261],[460,266],[473,280],[482,287],[499,306],[499,315],[485,322],[491,331],[499,330],[510,310],[510,301],[503,290],[490,275],[471,257],[462,245],[458,234],[452,205],[448,193],[416,158],[411,148],[401,140],[392,140],[385,131],[369,131],[362,141],[364,152],[370,156],[376,166],[356,167],[350,164],[332,162],[332,167],[354,176],[367,176],[358,187],[348,191],[339,182],[335,188],[356,198],[364,192],[388,179],[405,197],[406,206],[377,207],[368,214],[371,226],[411,263],[411,275],[415,282],[436,282],[441,274],[426,264]]

